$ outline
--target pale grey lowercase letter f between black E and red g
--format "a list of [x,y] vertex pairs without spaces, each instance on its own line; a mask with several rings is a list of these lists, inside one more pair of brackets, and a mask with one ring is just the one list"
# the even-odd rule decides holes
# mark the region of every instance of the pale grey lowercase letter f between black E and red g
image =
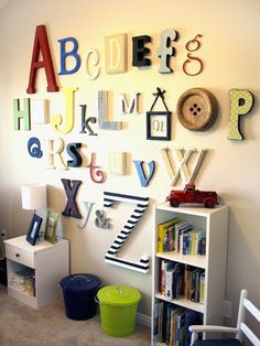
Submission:
[[158,50],[158,56],[161,57],[161,66],[159,68],[161,74],[173,72],[173,69],[169,66],[170,57],[175,54],[175,48],[171,46],[171,42],[176,41],[177,37],[177,32],[172,29],[164,30],[161,34],[161,44]]

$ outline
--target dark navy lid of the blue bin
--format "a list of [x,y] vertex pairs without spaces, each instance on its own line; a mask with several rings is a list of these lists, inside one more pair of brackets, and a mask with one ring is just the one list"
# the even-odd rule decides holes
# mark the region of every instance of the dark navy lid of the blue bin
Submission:
[[68,275],[61,281],[62,289],[74,292],[97,289],[100,284],[98,277],[88,273]]

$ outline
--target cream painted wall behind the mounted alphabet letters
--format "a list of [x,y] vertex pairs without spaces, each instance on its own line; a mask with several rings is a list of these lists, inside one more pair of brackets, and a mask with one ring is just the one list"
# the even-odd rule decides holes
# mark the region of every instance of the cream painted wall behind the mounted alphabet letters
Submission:
[[[66,197],[61,179],[82,180],[77,197],[83,215],[82,201],[95,202],[94,212],[102,206],[104,191],[134,194],[150,197],[150,207],[140,227],[132,234],[123,256],[138,259],[143,253],[152,255],[152,231],[154,203],[164,201],[170,186],[160,149],[198,148],[207,149],[205,161],[196,179],[199,188],[214,188],[221,203],[230,206],[227,299],[234,302],[234,318],[240,289],[246,288],[250,298],[260,303],[260,236],[259,236],[259,148],[260,148],[260,2],[258,0],[230,1],[33,1],[11,0],[0,11],[0,227],[9,231],[9,237],[26,233],[30,213],[22,210],[20,186],[28,182],[48,184],[50,207],[62,213]],[[57,40],[73,36],[79,43],[80,69],[71,76],[56,76],[61,87],[77,87],[75,94],[75,127],[66,136],[65,143],[79,141],[84,148],[84,164],[91,152],[97,153],[97,164],[108,172],[108,152],[129,153],[128,175],[107,174],[104,184],[95,184],[86,167],[68,171],[47,170],[44,160],[32,159],[26,151],[30,137],[56,138],[50,125],[32,125],[32,131],[14,131],[12,120],[12,99],[30,97],[50,100],[50,113],[64,111],[61,93],[46,93],[43,73],[37,76],[35,95],[26,95],[31,54],[35,26],[45,24],[56,73],[59,71],[59,45]],[[177,54],[172,58],[174,74],[161,75],[156,50],[160,34],[165,29],[175,29],[180,40],[174,44]],[[105,72],[104,40],[107,35],[128,34],[128,72],[108,75]],[[197,56],[204,62],[204,71],[195,77],[186,76],[182,64],[186,60],[185,43],[197,33],[203,34],[202,47]],[[131,37],[148,34],[152,36],[152,66],[138,69],[131,67]],[[88,80],[85,73],[86,52],[95,48],[100,54],[100,76]],[[145,111],[153,101],[156,87],[166,90],[166,104],[173,111],[172,141],[145,140]],[[176,102],[183,91],[193,87],[208,88],[219,105],[218,118],[206,132],[192,132],[177,121]],[[241,130],[246,140],[227,140],[229,121],[229,97],[231,88],[249,89],[254,95],[252,111],[242,117]],[[109,132],[93,128],[97,137],[78,133],[80,129],[82,102],[87,104],[87,115],[98,117],[97,91],[109,90],[110,109],[115,110],[116,95],[119,93],[141,93],[140,115],[117,116],[123,121],[123,130]],[[66,155],[65,155],[66,156]],[[155,174],[148,187],[141,187],[131,160],[156,162]],[[182,187],[182,182],[178,182]],[[79,220],[61,216],[59,230],[71,240],[72,272],[93,272],[105,283],[126,283],[140,289],[143,300],[140,312],[150,314],[151,274],[137,273],[105,263],[104,256],[118,229],[123,225],[129,209],[117,204],[107,210],[112,219],[110,230],[95,227],[91,213],[85,229],[78,229]],[[231,323],[234,321],[227,321]]]

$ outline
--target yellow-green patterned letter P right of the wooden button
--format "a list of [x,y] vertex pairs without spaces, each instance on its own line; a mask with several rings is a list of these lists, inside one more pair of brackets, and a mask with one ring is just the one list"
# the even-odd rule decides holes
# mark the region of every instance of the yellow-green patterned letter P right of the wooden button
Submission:
[[230,115],[228,139],[241,141],[243,136],[240,131],[240,116],[247,115],[253,106],[253,95],[248,90],[229,90]]

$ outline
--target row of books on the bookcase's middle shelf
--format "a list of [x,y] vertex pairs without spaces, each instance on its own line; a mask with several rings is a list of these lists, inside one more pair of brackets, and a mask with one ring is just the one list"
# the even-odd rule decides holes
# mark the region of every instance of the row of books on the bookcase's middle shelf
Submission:
[[166,259],[160,263],[160,293],[169,300],[184,298],[205,303],[205,270]]

